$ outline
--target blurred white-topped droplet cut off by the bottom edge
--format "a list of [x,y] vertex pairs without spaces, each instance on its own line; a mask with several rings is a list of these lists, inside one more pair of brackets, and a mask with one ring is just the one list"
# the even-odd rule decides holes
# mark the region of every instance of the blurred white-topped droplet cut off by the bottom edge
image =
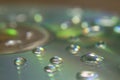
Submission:
[[98,74],[93,71],[82,71],[76,74],[77,80],[98,80]]

